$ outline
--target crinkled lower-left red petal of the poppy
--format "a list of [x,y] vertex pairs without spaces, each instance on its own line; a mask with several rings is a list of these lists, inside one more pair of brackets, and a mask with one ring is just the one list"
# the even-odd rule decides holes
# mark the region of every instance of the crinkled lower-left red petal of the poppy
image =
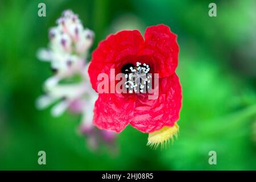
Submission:
[[133,118],[135,100],[135,94],[99,94],[94,106],[94,125],[99,129],[121,132]]

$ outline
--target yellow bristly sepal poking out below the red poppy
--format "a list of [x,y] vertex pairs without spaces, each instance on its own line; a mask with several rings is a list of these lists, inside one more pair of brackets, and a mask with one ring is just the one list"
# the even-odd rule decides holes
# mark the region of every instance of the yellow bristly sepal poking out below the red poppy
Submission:
[[177,137],[178,133],[179,125],[177,125],[177,123],[172,127],[164,126],[162,129],[148,134],[147,146],[152,148],[157,148],[159,144],[161,147],[163,147],[163,144],[166,146],[166,144],[170,142],[170,139],[173,140],[174,136]]

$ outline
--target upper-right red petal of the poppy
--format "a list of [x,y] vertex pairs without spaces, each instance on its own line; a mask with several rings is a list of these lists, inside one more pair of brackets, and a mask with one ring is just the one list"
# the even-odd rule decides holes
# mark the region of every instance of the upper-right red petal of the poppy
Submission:
[[145,42],[139,55],[152,56],[152,69],[159,77],[174,74],[178,63],[179,46],[177,36],[168,26],[160,24],[148,27],[144,34]]

